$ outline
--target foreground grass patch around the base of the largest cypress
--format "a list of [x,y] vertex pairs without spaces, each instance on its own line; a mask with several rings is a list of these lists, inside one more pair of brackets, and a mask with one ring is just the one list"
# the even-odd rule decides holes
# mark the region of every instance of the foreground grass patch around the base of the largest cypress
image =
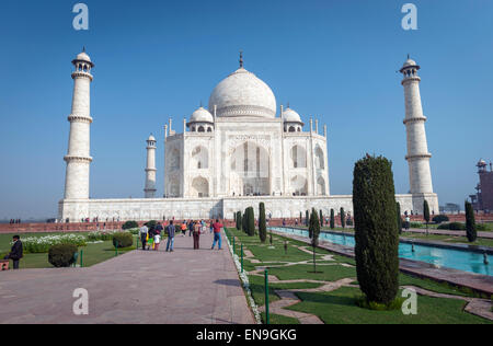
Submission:
[[357,288],[296,295],[302,302],[287,309],[316,314],[330,324],[492,324],[492,321],[463,312],[466,302],[457,299],[417,296],[417,314],[404,315],[401,310],[371,311],[357,307],[355,297],[360,295]]

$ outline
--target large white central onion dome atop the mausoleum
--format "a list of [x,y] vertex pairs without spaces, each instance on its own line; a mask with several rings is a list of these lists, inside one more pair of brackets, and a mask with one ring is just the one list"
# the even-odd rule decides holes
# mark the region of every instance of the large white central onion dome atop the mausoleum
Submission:
[[209,109],[217,116],[276,117],[276,97],[271,88],[252,72],[240,68],[214,89]]

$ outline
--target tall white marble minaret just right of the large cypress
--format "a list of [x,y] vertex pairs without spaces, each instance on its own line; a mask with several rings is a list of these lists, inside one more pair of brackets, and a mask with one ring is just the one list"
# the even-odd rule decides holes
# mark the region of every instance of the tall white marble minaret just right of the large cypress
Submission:
[[403,74],[402,85],[404,86],[405,118],[404,125],[408,134],[408,155],[409,177],[411,194],[432,194],[432,173],[429,170],[429,159],[426,141],[425,122],[423,106],[421,104],[420,82],[417,76],[420,66],[414,60],[408,59],[400,70]]

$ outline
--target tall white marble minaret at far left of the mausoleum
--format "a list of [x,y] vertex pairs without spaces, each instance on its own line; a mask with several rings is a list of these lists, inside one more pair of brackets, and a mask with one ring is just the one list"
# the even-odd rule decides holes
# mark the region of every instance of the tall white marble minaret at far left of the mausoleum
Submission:
[[89,168],[91,117],[91,69],[94,67],[91,58],[82,51],[72,61],[76,70],[72,72],[73,97],[70,122],[68,152],[65,178],[65,199],[89,199]]

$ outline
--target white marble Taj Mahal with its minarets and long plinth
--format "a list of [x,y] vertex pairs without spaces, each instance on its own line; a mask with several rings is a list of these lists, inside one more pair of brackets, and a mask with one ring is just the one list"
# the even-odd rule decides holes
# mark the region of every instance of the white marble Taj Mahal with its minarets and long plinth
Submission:
[[[85,50],[85,49],[84,49]],[[90,85],[94,64],[85,51],[72,61],[74,82],[65,196],[59,219],[100,220],[233,219],[233,214],[265,203],[272,218],[297,218],[311,208],[353,211],[351,195],[331,195],[328,127],[300,116],[289,105],[277,106],[271,88],[244,68],[223,79],[183,124],[164,125],[164,170],[158,174],[158,140],[146,140],[147,165],[142,198],[90,198]],[[401,68],[404,88],[410,191],[395,195],[401,210],[421,214],[426,199],[438,211],[423,107],[420,66],[408,59]],[[191,109],[192,111],[192,109]],[[303,122],[308,120],[308,124]],[[395,122],[401,118],[397,115]],[[306,129],[308,125],[308,129]],[[98,149],[94,149],[98,150]],[[164,191],[156,182],[162,176]]]

